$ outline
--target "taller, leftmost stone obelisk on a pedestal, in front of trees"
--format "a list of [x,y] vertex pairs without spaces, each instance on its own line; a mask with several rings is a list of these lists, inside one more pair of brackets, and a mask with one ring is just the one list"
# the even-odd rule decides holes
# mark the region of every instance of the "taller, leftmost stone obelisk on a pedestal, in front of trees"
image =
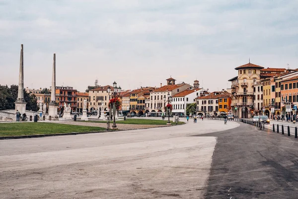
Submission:
[[27,102],[24,100],[24,53],[23,53],[23,44],[21,44],[19,85],[18,85],[17,99],[14,103],[15,103],[15,111],[19,110],[21,114],[26,112]]

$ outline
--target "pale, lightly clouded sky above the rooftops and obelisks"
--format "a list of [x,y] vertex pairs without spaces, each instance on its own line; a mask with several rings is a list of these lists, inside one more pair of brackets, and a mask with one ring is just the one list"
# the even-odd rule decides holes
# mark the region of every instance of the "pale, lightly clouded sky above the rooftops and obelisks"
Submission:
[[235,67],[298,68],[298,0],[0,0],[0,85],[83,92],[177,83],[230,87]]

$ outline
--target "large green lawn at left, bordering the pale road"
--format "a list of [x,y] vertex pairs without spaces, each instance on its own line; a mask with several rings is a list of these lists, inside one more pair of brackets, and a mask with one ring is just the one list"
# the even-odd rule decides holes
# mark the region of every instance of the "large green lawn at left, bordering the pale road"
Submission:
[[105,128],[44,122],[0,123],[0,136],[105,131]]

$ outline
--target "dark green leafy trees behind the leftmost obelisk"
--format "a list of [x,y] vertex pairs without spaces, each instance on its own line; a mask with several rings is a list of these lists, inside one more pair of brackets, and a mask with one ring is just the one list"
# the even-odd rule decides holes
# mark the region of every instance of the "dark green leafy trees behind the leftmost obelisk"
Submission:
[[[14,109],[15,108],[15,100],[17,98],[18,93],[18,86],[11,85],[10,88],[6,86],[0,85],[0,110],[5,109]],[[26,109],[37,111],[38,105],[37,105],[37,99],[35,95],[28,94],[24,90],[24,100],[27,102]]]

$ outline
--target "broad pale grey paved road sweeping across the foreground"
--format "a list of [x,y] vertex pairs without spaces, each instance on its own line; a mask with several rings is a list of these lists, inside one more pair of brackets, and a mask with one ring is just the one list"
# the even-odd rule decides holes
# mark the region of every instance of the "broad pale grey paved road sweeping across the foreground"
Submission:
[[0,140],[1,199],[203,198],[216,137],[239,126],[198,123]]

